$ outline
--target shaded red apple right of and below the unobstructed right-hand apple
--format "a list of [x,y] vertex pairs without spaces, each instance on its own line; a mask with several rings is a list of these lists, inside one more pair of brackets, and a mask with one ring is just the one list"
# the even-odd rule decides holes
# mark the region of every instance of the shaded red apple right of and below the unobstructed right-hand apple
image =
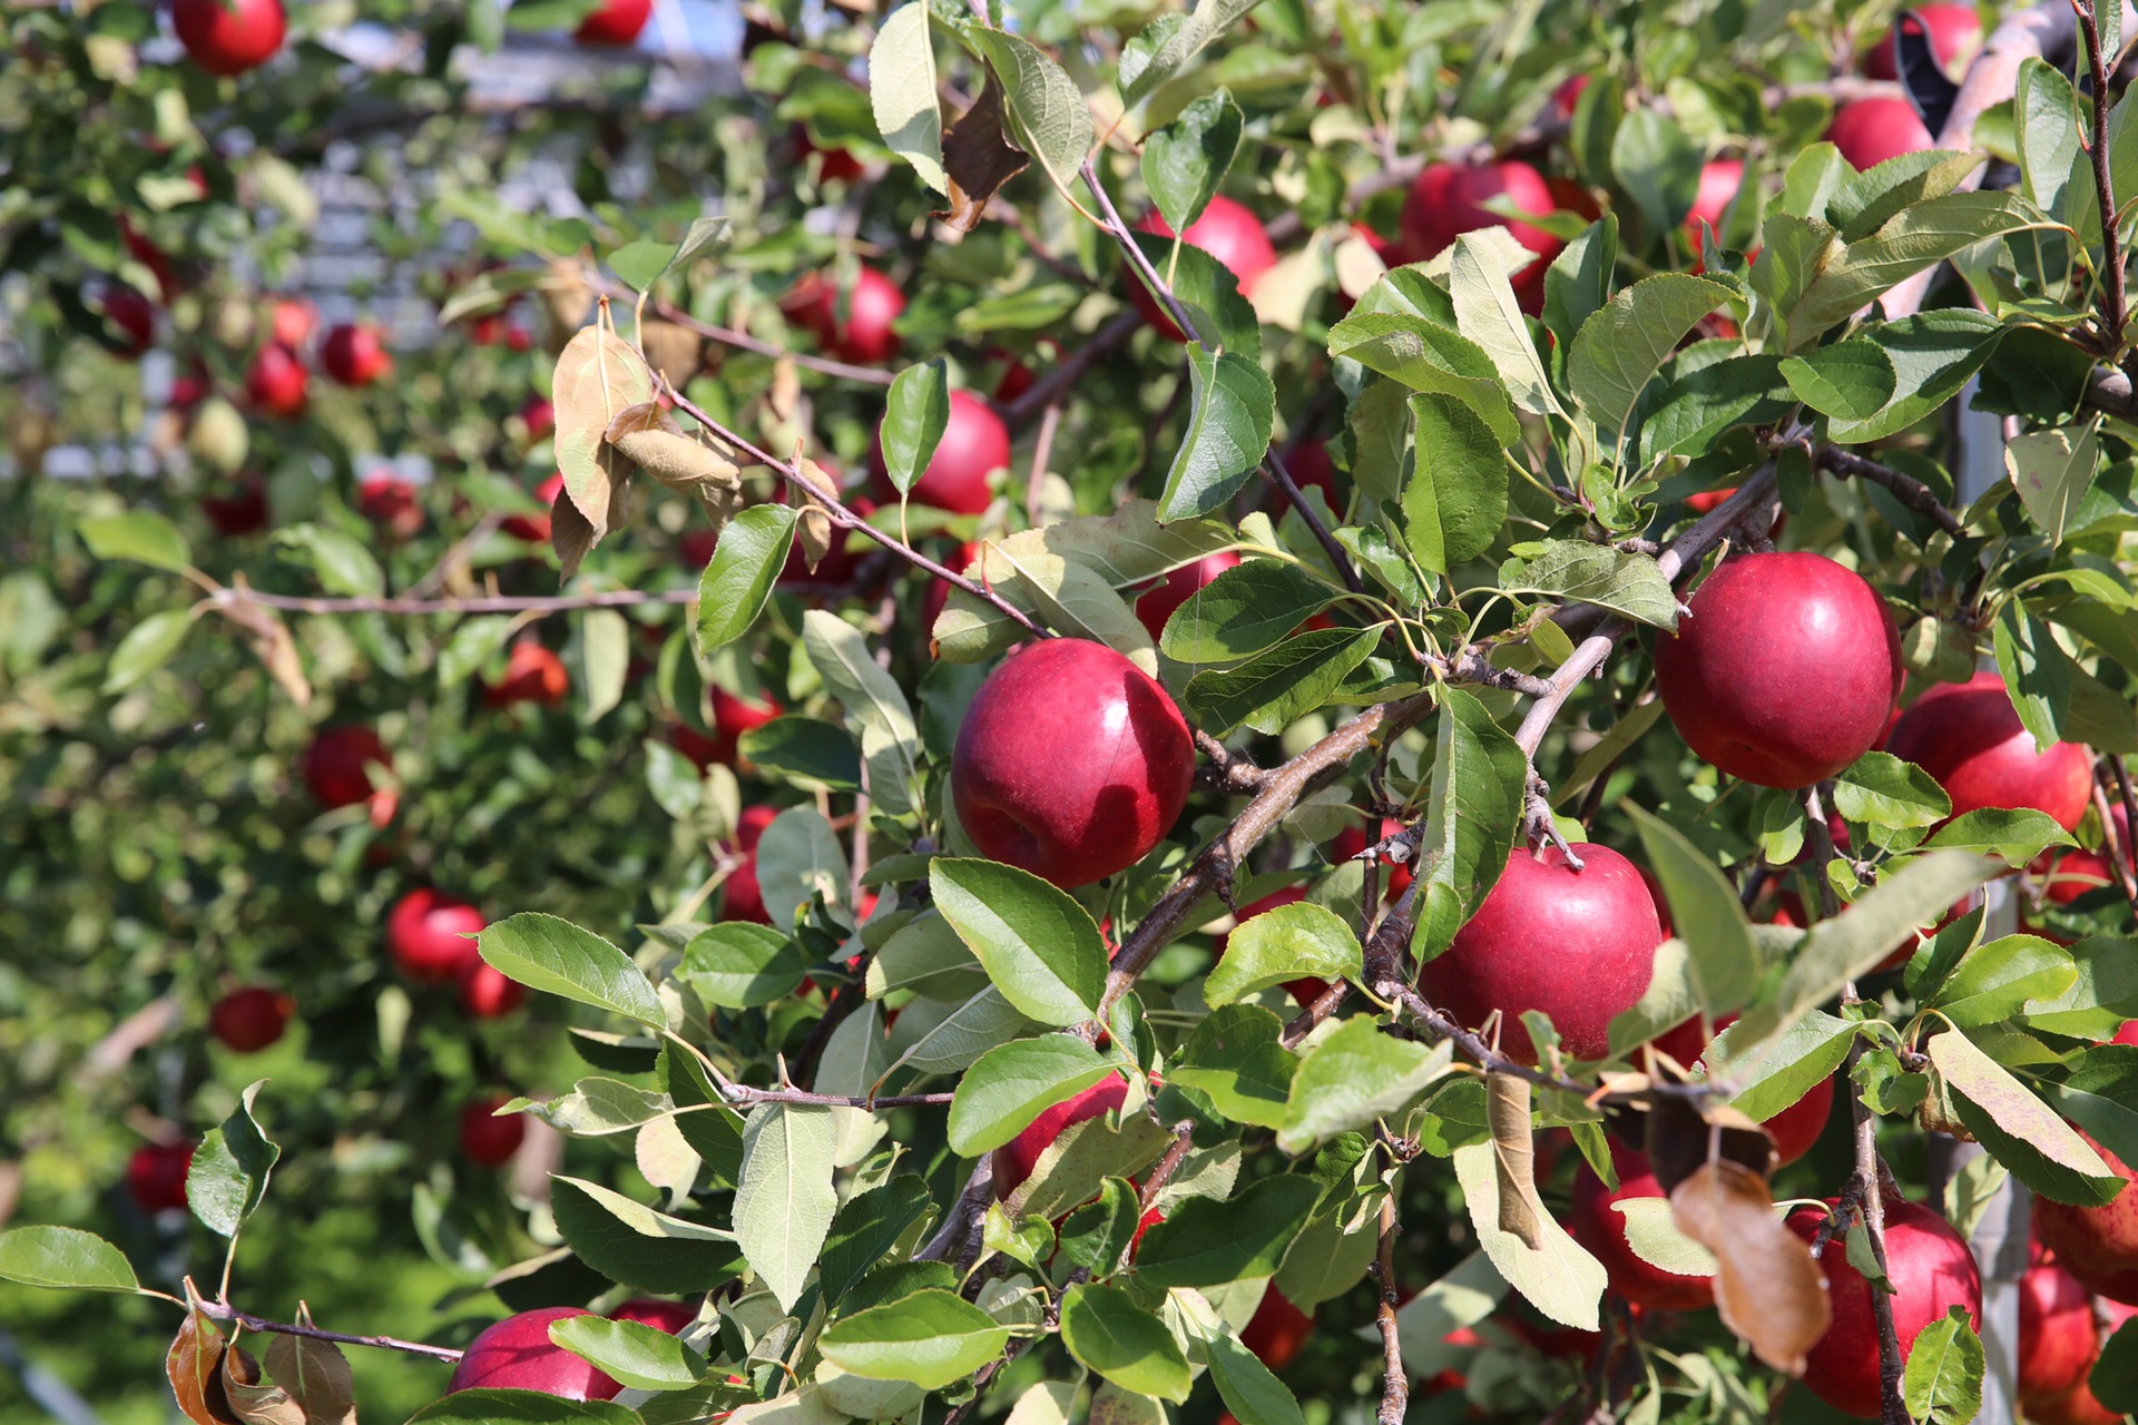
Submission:
[[1952,797],[1952,814],[2033,808],[2070,831],[2093,799],[2093,756],[2074,741],[2038,748],[1995,673],[1939,684],[1916,699],[1886,737]]

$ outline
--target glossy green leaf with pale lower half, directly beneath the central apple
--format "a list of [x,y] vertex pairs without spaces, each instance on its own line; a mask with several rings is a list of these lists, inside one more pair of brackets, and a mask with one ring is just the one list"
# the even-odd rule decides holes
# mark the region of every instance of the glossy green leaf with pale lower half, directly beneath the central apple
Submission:
[[1067,891],[1013,865],[949,857],[928,865],[928,891],[1020,1013],[1050,1025],[1099,1013],[1105,942]]

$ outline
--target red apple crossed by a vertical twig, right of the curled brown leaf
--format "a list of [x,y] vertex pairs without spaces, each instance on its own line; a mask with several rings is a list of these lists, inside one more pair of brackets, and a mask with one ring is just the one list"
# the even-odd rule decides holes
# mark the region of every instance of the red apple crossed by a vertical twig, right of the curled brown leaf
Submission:
[[[1811,1241],[1824,1220],[1822,1209],[1798,1207],[1790,1213],[1790,1231]],[[1954,1305],[1967,1307],[1969,1327],[1980,1329],[1982,1278],[1976,1258],[1967,1239],[1928,1207],[1886,1201],[1886,1269],[1894,1286],[1892,1325],[1901,1335],[1903,1359],[1922,1329]],[[1819,1254],[1819,1271],[1826,1273],[1826,1301],[1834,1318],[1804,1359],[1804,1384],[1843,1414],[1875,1419],[1879,1376],[1873,1288],[1849,1265],[1839,1237]]]

